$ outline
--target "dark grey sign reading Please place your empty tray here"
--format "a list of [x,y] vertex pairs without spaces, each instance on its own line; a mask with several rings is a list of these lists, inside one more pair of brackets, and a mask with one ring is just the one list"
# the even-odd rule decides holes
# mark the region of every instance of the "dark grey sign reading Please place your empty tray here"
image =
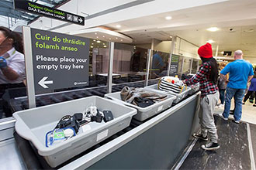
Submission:
[[88,85],[89,39],[31,29],[36,92]]

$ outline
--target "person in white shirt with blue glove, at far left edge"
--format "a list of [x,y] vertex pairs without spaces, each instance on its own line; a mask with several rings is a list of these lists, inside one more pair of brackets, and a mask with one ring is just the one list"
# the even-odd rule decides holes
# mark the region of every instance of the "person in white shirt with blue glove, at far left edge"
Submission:
[[25,59],[22,53],[19,34],[0,26],[0,98],[7,89],[25,87]]

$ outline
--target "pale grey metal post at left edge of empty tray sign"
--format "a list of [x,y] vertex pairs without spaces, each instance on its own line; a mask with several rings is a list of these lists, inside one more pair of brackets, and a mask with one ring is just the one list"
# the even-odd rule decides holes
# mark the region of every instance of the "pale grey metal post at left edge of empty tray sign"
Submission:
[[31,30],[27,26],[22,27],[25,64],[26,64],[26,91],[29,100],[29,108],[36,107],[35,84],[33,74],[33,56],[32,56],[32,42]]

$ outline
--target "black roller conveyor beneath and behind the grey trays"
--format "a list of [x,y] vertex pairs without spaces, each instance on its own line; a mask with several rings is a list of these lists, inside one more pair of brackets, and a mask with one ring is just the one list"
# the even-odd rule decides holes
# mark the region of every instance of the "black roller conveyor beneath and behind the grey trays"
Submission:
[[[154,84],[155,82],[151,82],[149,84]],[[113,86],[112,89],[113,90],[121,90],[124,86],[126,86],[128,84],[119,84],[116,86]],[[144,87],[144,83],[130,83],[129,84],[130,87]],[[61,101],[64,100],[73,100],[73,99],[77,99],[77,98],[81,98],[81,97],[87,97],[87,96],[91,96],[93,94],[99,94],[102,96],[104,96],[104,94],[106,93],[106,87],[99,87],[97,90],[95,89],[90,89],[90,90],[76,90],[76,91],[69,91],[67,93],[55,93],[54,95],[44,95],[44,96],[40,96],[40,97],[36,97],[36,104],[38,104],[39,106],[43,106],[46,104],[54,104],[54,103],[59,103]],[[189,96],[188,96],[189,97]],[[186,98],[188,98],[186,97]],[[185,98],[185,99],[186,99]],[[183,100],[185,100],[183,99]],[[17,99],[15,102],[20,102],[21,106],[19,107],[14,107],[14,109],[24,109],[27,108],[27,103],[26,103],[26,99],[22,99],[21,101],[19,99]],[[175,105],[175,104],[173,104]],[[155,115],[157,116],[157,115]],[[155,117],[154,116],[154,117]],[[150,117],[149,119],[151,119],[153,117]],[[139,126],[140,124],[143,124],[144,122],[148,121],[149,119],[141,122],[141,121],[137,121],[135,119],[132,119],[130,126],[128,128],[123,129],[123,131],[119,131],[117,134],[112,135],[111,137],[107,138],[105,141],[102,141],[101,143],[99,143],[98,145],[95,145],[92,148],[89,148],[87,151],[82,152],[80,155],[75,156],[74,158],[71,158],[69,161],[65,162],[63,165],[58,166],[57,168],[61,168],[64,165],[67,165],[69,162],[73,162],[75,159],[81,157],[82,155],[86,155],[88,152],[93,151],[95,148],[99,148],[102,145],[105,145],[107,142],[112,141],[115,138],[118,138],[120,135],[125,134],[127,131],[132,130],[133,128],[136,128],[137,126]],[[33,153],[34,155],[36,155],[36,161],[33,160],[33,162],[35,162],[35,165],[30,165],[31,162],[26,162],[28,165],[28,167],[36,167],[38,166],[38,168],[50,168],[49,165],[47,165],[47,162],[45,162],[45,160],[43,159],[43,157],[41,157],[40,155],[37,154],[36,148],[33,148],[33,146],[31,147],[32,144],[28,145],[28,141],[26,141],[25,139],[20,139],[21,137],[19,137],[18,134],[15,134],[15,138],[16,138],[16,142],[19,144],[18,148],[21,152],[29,151],[29,153]],[[33,148],[33,152],[31,152],[31,148]],[[34,157],[34,155],[31,154],[23,154],[22,153],[22,157],[24,158],[24,160],[29,160],[31,159],[30,157]]]

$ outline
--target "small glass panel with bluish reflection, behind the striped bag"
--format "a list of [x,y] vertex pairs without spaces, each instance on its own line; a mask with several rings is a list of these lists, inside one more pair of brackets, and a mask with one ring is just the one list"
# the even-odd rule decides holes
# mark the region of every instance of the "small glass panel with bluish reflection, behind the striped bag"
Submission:
[[169,56],[169,53],[155,50],[152,51],[149,79],[157,79],[162,76],[167,76]]

